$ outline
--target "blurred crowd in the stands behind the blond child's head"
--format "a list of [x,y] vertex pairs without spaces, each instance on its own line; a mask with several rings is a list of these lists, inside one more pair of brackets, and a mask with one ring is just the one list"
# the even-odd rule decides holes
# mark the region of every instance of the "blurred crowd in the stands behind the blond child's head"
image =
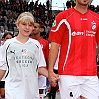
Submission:
[[17,28],[15,20],[21,12],[31,12],[36,21],[39,22],[43,28],[41,35],[47,39],[48,33],[54,17],[52,16],[52,10],[50,9],[49,0],[46,3],[41,4],[39,0],[28,4],[26,1],[15,0],[14,2],[2,2],[0,1],[0,32],[12,31],[17,34]]

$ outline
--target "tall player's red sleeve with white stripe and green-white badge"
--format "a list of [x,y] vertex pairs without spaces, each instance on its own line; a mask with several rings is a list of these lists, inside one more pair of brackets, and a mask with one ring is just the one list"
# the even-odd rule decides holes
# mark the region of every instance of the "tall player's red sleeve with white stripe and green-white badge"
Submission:
[[53,42],[61,44],[64,31],[66,31],[65,29],[66,25],[64,23],[64,12],[61,12],[56,16],[53,22],[48,39]]

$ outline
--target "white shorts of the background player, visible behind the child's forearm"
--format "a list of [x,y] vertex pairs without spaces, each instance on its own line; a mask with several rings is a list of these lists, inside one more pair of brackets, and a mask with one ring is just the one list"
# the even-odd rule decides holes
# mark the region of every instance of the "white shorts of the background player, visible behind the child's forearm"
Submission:
[[46,89],[46,77],[43,75],[38,76],[38,87],[39,89]]

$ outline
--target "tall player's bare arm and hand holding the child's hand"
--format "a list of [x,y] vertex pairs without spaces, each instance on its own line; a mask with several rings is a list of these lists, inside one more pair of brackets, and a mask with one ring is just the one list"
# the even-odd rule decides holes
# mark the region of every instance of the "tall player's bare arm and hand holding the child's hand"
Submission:
[[60,46],[59,44],[52,42],[51,49],[49,52],[48,79],[50,82],[52,82],[56,85],[57,85],[56,82],[59,80],[59,77],[57,74],[54,73],[53,69],[54,69],[54,64],[56,62],[56,59],[57,59],[59,46]]

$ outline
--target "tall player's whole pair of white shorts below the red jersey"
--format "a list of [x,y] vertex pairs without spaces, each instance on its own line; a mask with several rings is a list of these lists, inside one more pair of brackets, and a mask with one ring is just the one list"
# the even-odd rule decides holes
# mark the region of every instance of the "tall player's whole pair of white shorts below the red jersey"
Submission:
[[60,75],[59,89],[61,99],[99,99],[99,80],[97,76]]

